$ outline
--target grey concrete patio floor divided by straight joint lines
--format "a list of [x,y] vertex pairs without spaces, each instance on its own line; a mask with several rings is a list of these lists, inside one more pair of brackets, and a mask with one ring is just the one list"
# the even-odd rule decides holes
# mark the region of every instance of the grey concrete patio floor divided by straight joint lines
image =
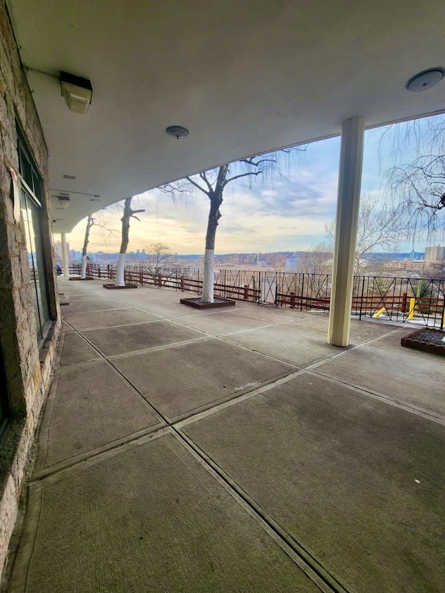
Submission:
[[412,327],[69,282],[3,590],[443,592],[445,361]]

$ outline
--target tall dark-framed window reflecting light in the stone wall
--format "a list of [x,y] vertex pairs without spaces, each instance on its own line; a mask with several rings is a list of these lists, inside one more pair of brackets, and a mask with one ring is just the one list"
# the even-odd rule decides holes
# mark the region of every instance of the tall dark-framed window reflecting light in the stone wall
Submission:
[[22,214],[26,233],[29,271],[33,283],[35,322],[38,340],[42,341],[51,323],[41,220],[42,204],[40,198],[42,183],[21,136],[19,136],[18,149],[19,173],[22,177]]

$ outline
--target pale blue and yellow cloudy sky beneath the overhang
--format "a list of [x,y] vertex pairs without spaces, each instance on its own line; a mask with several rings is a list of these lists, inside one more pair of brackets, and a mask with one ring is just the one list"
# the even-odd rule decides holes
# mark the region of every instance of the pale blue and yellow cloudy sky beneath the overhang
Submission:
[[[385,145],[384,154],[379,147],[381,133],[378,129],[365,134],[362,193],[382,193],[385,170],[393,164],[391,146]],[[221,206],[216,253],[309,250],[326,241],[325,224],[335,218],[339,150],[340,138],[321,140],[308,145],[289,165],[282,165],[286,179],[254,179],[251,190],[242,180],[229,184]],[[405,147],[399,162],[410,162],[413,154]],[[133,209],[136,207],[145,208],[145,213],[138,215],[140,222],[131,220],[128,251],[161,241],[174,253],[204,252],[209,213],[209,199],[204,194],[182,195],[174,203],[170,195],[151,190],[135,197]],[[115,236],[106,239],[104,231],[93,227],[88,249],[117,252],[122,211],[108,206],[100,216],[116,229]],[[67,234],[71,249],[81,250],[85,227],[86,219]],[[425,245],[426,239],[421,238],[414,249],[423,251]],[[412,247],[412,241],[401,245],[402,250]]]

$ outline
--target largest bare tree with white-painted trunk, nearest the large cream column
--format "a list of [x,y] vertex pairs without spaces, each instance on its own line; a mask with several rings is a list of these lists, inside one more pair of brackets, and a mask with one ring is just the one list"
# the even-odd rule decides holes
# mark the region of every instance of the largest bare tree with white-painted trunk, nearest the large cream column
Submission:
[[[298,147],[296,149],[289,149],[286,154],[291,154],[291,151],[304,151],[305,147]],[[264,154],[258,157],[250,157],[248,159],[241,159],[236,163],[221,165],[217,169],[203,171],[193,177],[186,177],[184,180],[176,184],[168,184],[161,186],[159,189],[165,193],[175,195],[177,192],[187,192],[193,189],[200,191],[207,195],[210,201],[209,218],[207,221],[207,233],[204,251],[204,277],[202,282],[202,302],[213,302],[213,283],[215,278],[215,238],[216,229],[221,218],[220,207],[223,204],[224,190],[229,183],[236,179],[247,179],[248,183],[254,177],[259,175],[277,172],[280,174],[278,167],[278,156],[275,154]]]

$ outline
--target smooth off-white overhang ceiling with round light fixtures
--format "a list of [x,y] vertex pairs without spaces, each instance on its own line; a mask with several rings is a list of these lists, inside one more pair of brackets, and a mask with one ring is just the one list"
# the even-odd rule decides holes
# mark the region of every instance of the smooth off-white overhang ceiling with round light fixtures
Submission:
[[[445,108],[443,0],[10,0],[24,64],[92,82],[86,115],[29,72],[50,186],[70,193],[54,232],[186,174]],[[188,138],[165,134],[171,124]],[[76,179],[67,180],[64,174]],[[76,192],[76,193],[75,193]],[[99,196],[102,202],[91,202]],[[58,206],[54,200],[54,208]]]

